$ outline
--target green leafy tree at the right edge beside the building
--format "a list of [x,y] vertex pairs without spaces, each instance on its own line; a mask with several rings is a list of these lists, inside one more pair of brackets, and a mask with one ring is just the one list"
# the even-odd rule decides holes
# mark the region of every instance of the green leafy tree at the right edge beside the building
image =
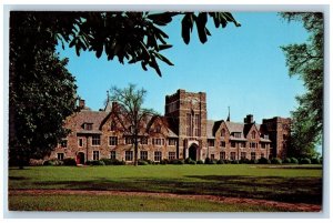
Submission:
[[[307,42],[282,47],[291,77],[304,81],[306,92],[297,95],[292,112],[291,146],[294,155],[312,156],[323,132],[324,23],[321,12],[285,12],[282,18],[302,21],[310,32]],[[296,154],[295,154],[296,153]]]

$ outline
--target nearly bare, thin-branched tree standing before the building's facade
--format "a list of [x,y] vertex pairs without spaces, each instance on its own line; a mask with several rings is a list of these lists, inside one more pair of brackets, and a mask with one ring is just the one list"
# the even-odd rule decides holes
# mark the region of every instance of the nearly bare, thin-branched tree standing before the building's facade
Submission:
[[134,84],[128,88],[119,89],[112,87],[109,100],[117,102],[113,109],[115,119],[120,123],[124,134],[131,138],[134,145],[134,165],[138,165],[138,148],[142,139],[141,130],[144,129],[147,120],[155,112],[151,109],[142,108],[147,91],[144,89],[137,90]]

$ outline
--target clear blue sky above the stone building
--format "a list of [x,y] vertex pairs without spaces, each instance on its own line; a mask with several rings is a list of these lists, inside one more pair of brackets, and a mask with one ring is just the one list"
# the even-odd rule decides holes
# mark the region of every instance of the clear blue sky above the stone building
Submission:
[[164,98],[178,89],[206,92],[208,119],[228,116],[242,122],[252,113],[258,123],[262,119],[290,116],[297,104],[295,95],[304,91],[302,81],[290,78],[281,45],[306,41],[307,33],[301,23],[287,23],[276,12],[234,12],[242,24],[229,23],[215,29],[209,21],[206,43],[199,42],[193,29],[190,44],[181,38],[181,18],[175,18],[163,30],[173,48],[164,54],[174,67],[160,63],[162,78],[154,70],[143,71],[140,63],[120,64],[97,59],[92,52],[77,57],[73,49],[59,52],[70,59],[68,69],[75,77],[78,94],[92,110],[103,108],[107,90],[134,83],[148,91],[144,107],[164,112]]

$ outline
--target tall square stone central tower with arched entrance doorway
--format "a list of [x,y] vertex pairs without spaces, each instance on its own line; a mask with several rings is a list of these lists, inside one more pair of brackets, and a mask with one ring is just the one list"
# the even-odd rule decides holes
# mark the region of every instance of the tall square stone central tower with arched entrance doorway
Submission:
[[203,160],[206,150],[206,95],[178,90],[165,97],[165,118],[179,135],[178,158]]

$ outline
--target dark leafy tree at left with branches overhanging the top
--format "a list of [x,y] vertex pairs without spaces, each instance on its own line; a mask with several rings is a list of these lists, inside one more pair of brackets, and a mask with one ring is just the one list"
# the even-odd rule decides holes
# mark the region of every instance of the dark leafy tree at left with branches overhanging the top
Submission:
[[[54,54],[69,43],[78,55],[93,51],[97,58],[120,63],[140,62],[143,70],[161,71],[157,60],[173,63],[161,54],[172,45],[160,28],[183,16],[182,38],[190,42],[196,24],[202,43],[210,36],[208,17],[216,28],[233,22],[229,12],[40,12],[10,13],[9,150],[10,159],[42,158],[64,136],[61,124],[74,111],[74,79],[67,60]],[[60,93],[61,92],[61,93]]]

